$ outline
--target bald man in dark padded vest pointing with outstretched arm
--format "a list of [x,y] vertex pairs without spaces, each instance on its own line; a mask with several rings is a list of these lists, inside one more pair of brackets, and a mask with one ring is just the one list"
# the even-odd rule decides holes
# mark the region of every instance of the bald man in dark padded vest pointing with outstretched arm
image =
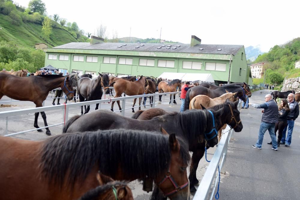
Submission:
[[254,108],[263,108],[262,110],[262,123],[260,124],[258,140],[256,145],[252,145],[253,148],[262,149],[262,140],[265,132],[268,130],[272,139],[272,149],[277,151],[276,136],[274,133],[275,124],[278,122],[278,106],[277,103],[272,99],[271,94],[265,95],[265,103],[255,104],[249,103]]

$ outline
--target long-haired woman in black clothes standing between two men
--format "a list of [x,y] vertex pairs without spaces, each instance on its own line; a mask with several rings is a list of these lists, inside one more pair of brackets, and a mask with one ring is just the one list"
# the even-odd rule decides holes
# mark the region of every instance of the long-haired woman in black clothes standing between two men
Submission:
[[[275,135],[276,132],[278,130],[278,139],[277,139],[277,146],[279,147],[280,145],[280,141],[282,138],[282,131],[284,129],[284,127],[286,127],[287,125],[287,115],[289,114],[291,110],[289,109],[289,105],[287,104],[287,100],[286,99],[281,99],[280,100],[280,106],[278,108],[278,122],[275,124]],[[272,142],[268,142],[269,145],[272,144]]]

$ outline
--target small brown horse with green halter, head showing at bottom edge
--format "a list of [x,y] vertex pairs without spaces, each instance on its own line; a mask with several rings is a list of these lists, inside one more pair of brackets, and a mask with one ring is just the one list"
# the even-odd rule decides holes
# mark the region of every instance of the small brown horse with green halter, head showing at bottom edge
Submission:
[[114,181],[112,178],[101,174],[97,174],[100,186],[89,190],[79,200],[133,200],[133,195],[127,183],[122,181]]

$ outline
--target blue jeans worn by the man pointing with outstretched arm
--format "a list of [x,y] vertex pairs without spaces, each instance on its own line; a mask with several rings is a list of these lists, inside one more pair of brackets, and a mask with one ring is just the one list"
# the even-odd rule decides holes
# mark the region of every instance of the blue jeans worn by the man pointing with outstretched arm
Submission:
[[274,149],[277,149],[277,141],[276,141],[274,129],[275,129],[275,123],[262,122],[259,127],[258,140],[256,142],[256,146],[259,148],[262,147],[263,136],[265,132],[268,130],[271,136],[272,146]]

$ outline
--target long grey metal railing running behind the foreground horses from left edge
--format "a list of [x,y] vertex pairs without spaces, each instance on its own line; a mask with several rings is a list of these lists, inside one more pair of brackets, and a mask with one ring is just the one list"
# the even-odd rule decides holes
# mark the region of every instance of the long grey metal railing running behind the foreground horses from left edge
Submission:
[[[6,118],[6,130],[5,132],[7,133],[8,130],[8,117],[11,116],[16,116],[16,115],[25,115],[25,114],[30,114],[30,113],[36,113],[36,112],[45,112],[45,111],[51,111],[51,110],[57,110],[57,109],[62,109],[62,122],[58,123],[58,124],[53,124],[47,127],[52,127],[52,126],[58,126],[58,125],[63,125],[68,121],[68,115],[69,115],[69,109],[70,108],[74,108],[74,107],[78,107],[78,106],[85,106],[85,105],[93,105],[96,103],[99,103],[99,109],[101,109],[101,103],[107,103],[107,102],[112,102],[112,101],[122,101],[122,111],[121,115],[124,116],[125,115],[125,110],[128,109],[132,109],[133,107],[130,108],[126,108],[125,109],[125,103],[126,100],[129,99],[134,99],[134,98],[140,98],[140,97],[151,97],[153,96],[153,103],[152,103],[152,108],[155,108],[155,104],[161,103],[161,102],[156,102],[155,103],[155,97],[159,96],[159,95],[164,95],[164,94],[178,94],[180,92],[168,92],[168,93],[155,93],[155,94],[143,94],[143,95],[135,95],[135,96],[126,96],[126,97],[117,97],[117,98],[107,98],[107,99],[102,99],[102,100],[94,100],[94,101],[85,101],[85,102],[78,102],[78,103],[70,103],[70,104],[61,104],[61,105],[55,105],[55,106],[43,106],[43,107],[38,107],[38,108],[29,108],[29,109],[19,109],[19,110],[11,110],[11,111],[4,111],[4,112],[0,112],[0,117],[5,117]],[[170,101],[170,100],[167,100]],[[150,105],[150,104],[148,104]],[[143,106],[143,105],[141,105]],[[171,106],[173,106],[173,98],[171,101]],[[139,107],[139,106],[135,106],[135,107]],[[134,108],[135,108],[134,107]],[[115,112],[119,112],[115,111]],[[17,135],[17,134],[21,134],[21,133],[27,133],[30,131],[34,131],[34,130],[38,130],[38,129],[43,129],[46,127],[40,127],[37,129],[31,129],[31,130],[26,130],[26,131],[21,131],[18,133],[11,133],[11,134],[6,134],[4,136],[13,136],[13,135]]]

